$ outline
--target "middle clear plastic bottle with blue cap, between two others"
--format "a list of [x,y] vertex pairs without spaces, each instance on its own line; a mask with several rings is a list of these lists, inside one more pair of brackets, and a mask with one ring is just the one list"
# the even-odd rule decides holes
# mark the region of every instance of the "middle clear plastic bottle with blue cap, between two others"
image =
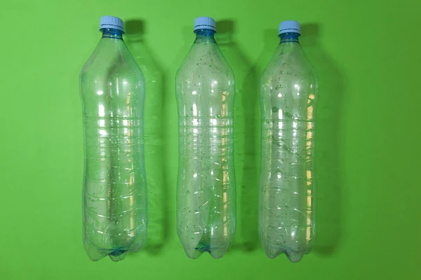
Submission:
[[176,77],[179,115],[177,232],[189,258],[225,254],[236,229],[234,74],[215,43],[215,21],[196,18],[196,40]]

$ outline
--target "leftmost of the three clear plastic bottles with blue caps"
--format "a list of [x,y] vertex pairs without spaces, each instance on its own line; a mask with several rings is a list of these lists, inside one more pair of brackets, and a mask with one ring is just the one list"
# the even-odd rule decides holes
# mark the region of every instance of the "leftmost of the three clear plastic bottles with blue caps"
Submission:
[[145,81],[123,41],[123,21],[100,20],[102,38],[81,71],[85,138],[83,244],[91,260],[122,260],[147,237],[143,152]]

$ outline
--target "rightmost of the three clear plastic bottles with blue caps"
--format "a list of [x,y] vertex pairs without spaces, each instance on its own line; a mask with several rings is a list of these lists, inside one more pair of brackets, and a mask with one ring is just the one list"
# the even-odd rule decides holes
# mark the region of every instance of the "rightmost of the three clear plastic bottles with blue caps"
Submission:
[[262,74],[259,234],[269,258],[292,262],[315,237],[314,117],[318,82],[298,41],[300,25],[281,22],[281,43]]

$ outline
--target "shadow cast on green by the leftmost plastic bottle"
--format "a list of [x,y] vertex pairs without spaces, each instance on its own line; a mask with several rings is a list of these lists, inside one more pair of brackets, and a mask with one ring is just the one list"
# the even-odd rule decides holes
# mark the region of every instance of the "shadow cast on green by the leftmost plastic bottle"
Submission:
[[145,166],[148,195],[148,235],[145,250],[159,254],[168,237],[168,183],[164,170],[163,99],[165,76],[145,43],[142,20],[124,22],[124,40],[145,75]]

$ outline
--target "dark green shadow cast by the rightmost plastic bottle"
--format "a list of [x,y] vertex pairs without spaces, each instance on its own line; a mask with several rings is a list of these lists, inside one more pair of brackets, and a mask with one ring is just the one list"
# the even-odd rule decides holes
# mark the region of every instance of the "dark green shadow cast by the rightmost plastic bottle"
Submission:
[[301,26],[300,42],[319,76],[316,109],[317,220],[314,251],[332,255],[342,238],[342,185],[340,176],[340,114],[344,79],[318,38],[316,23]]

